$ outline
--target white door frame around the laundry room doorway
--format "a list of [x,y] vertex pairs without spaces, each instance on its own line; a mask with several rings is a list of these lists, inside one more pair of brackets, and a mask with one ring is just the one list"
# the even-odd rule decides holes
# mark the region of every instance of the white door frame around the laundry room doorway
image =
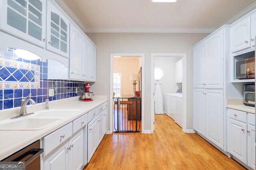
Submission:
[[154,57],[182,57],[182,132],[187,133],[187,55],[186,53],[151,53],[151,131],[154,132]]

